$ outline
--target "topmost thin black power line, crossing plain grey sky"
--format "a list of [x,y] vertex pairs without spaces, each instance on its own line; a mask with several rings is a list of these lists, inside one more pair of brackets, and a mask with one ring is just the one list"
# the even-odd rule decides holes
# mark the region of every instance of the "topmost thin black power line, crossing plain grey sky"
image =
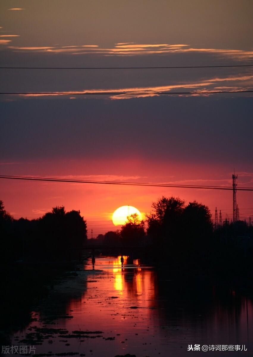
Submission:
[[165,67],[0,67],[0,69],[182,69],[182,68],[226,68],[253,67],[253,65],[217,65],[217,66],[165,66]]

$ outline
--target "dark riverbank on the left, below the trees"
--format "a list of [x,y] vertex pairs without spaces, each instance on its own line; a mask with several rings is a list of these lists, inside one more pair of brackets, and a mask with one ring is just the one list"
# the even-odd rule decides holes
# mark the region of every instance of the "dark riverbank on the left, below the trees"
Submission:
[[55,284],[63,277],[76,275],[73,266],[73,263],[16,262],[0,268],[2,345],[8,345],[10,334],[32,321],[32,306],[45,299]]

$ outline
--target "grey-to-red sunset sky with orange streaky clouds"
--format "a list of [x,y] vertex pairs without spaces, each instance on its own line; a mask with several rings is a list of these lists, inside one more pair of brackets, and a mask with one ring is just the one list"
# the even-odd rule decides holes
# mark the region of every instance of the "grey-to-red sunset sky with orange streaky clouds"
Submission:
[[[2,0],[0,7],[1,67],[253,64],[251,0]],[[1,93],[36,93],[0,95],[1,175],[231,186],[235,169],[238,186],[253,187],[252,93],[201,94],[253,90],[252,68],[0,69]],[[145,218],[162,195],[232,218],[232,191],[6,179],[0,186],[15,218],[64,205],[81,211],[89,237],[91,229],[97,236],[120,228],[111,221],[116,208],[135,206]],[[252,195],[237,192],[242,219],[253,216]]]

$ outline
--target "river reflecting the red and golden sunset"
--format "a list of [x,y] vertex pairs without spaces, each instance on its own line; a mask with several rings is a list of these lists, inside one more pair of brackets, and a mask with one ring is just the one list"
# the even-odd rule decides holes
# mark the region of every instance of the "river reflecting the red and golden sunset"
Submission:
[[[166,271],[123,258],[123,265],[120,256],[96,257],[95,266],[87,260],[51,286],[12,345],[32,345],[31,354],[42,356],[253,356],[247,296],[204,278],[175,281]],[[188,351],[188,345],[240,345],[243,351]]]

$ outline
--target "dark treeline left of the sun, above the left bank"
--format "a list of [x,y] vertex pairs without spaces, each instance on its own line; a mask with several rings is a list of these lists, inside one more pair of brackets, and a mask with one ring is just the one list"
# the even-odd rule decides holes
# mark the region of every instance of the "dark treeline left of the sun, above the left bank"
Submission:
[[71,248],[87,240],[87,225],[80,211],[54,207],[41,218],[15,220],[0,201],[1,261],[69,260]]

